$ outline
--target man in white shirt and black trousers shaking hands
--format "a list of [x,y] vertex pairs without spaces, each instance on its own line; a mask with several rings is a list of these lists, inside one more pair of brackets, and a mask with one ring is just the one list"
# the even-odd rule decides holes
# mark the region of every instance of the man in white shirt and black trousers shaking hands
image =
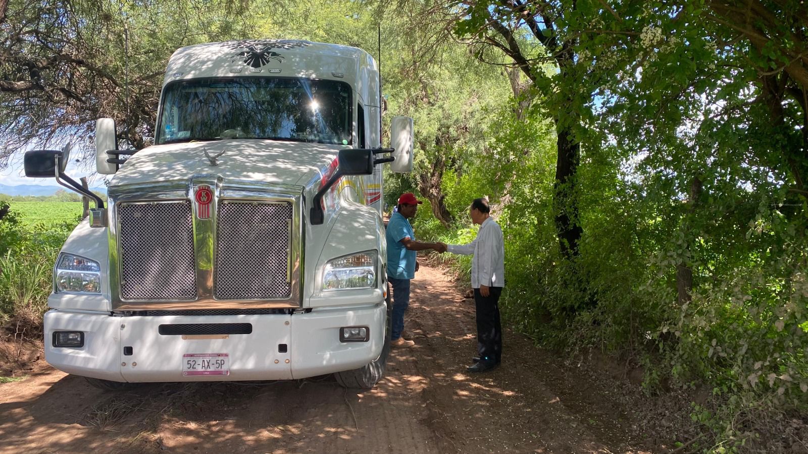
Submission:
[[474,199],[469,207],[474,224],[480,225],[477,238],[465,245],[447,245],[452,254],[473,254],[471,287],[477,305],[477,348],[479,356],[469,372],[485,372],[502,359],[503,329],[499,323],[499,296],[505,284],[505,244],[503,230],[490,218],[488,200]]

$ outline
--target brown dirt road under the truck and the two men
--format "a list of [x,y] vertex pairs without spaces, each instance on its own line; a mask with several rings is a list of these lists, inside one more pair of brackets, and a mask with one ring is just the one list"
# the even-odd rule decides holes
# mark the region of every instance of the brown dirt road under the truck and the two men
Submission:
[[617,396],[626,384],[579,374],[510,330],[500,368],[466,372],[476,342],[463,290],[421,268],[407,314],[417,345],[394,350],[371,391],[322,378],[107,393],[41,366],[0,384],[0,453],[666,451]]

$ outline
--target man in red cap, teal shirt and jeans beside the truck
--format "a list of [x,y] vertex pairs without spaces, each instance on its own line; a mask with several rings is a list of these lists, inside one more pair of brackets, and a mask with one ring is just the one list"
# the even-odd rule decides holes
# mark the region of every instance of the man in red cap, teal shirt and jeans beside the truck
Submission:
[[444,252],[440,243],[415,241],[410,219],[415,217],[418,205],[422,204],[412,192],[398,198],[398,211],[387,223],[387,280],[393,287],[393,332],[390,335],[393,347],[410,348],[415,345],[411,335],[404,330],[404,311],[410,305],[410,280],[415,279],[418,261],[415,251],[434,249]]

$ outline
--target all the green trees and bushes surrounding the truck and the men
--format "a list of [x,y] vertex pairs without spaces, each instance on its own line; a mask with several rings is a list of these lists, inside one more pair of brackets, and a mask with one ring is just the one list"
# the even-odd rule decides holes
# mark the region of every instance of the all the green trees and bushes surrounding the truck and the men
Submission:
[[[646,393],[706,394],[682,452],[808,446],[801,2],[7,3],[0,162],[48,140],[90,158],[102,116],[149,145],[180,46],[282,37],[375,55],[380,25],[384,121],[416,128],[415,171],[391,174],[385,201],[427,200],[419,238],[470,241],[469,202],[488,196],[509,325],[570,359],[609,355]],[[41,313],[71,225],[25,222],[0,220],[0,317]]]

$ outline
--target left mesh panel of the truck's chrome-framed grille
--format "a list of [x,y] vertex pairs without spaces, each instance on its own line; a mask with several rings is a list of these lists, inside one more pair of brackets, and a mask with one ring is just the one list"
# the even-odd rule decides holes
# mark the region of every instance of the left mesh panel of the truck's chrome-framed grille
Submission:
[[120,296],[196,298],[191,204],[120,204]]

